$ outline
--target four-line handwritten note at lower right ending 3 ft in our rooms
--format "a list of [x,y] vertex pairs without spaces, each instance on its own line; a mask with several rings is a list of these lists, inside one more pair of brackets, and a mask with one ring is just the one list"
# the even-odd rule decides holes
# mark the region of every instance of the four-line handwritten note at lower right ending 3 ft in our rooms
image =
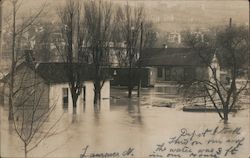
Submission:
[[245,138],[241,128],[207,128],[202,131],[180,129],[167,142],[156,144],[149,157],[170,158],[224,158],[235,157],[240,152]]

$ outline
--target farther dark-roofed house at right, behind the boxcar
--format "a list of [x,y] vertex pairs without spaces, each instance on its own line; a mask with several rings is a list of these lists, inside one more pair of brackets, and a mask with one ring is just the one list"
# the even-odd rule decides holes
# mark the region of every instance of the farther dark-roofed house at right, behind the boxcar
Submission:
[[217,70],[218,78],[220,74],[215,55],[197,53],[189,48],[145,49],[141,55],[141,64],[152,68],[151,80],[155,82],[211,80],[212,71],[208,64]]

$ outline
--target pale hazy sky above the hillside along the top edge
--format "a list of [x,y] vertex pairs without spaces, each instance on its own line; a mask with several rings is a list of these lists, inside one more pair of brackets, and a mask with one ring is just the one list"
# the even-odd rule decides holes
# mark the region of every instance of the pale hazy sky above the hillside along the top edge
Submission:
[[[21,1],[21,0],[20,0]],[[25,14],[32,13],[46,0],[22,0],[21,10]],[[190,27],[212,27],[228,24],[229,18],[235,24],[248,24],[249,2],[248,0],[111,0],[121,5],[127,2],[131,5],[143,4],[149,19],[160,30],[182,30]],[[56,8],[63,0],[47,0],[50,5],[47,12],[54,15]],[[10,4],[4,4],[4,10],[8,12]]]

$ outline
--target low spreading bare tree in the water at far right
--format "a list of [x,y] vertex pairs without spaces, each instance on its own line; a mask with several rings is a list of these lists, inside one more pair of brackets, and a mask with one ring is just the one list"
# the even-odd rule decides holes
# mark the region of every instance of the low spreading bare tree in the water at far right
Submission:
[[[199,95],[204,94],[203,96],[211,101],[224,122],[228,121],[228,114],[236,108],[239,95],[248,84],[247,80],[241,85],[236,83],[240,68],[247,63],[247,32],[245,27],[230,25],[217,32],[216,36],[204,36],[203,40],[190,32],[186,34],[186,45],[199,54],[204,65],[208,67],[211,78],[194,79],[184,85],[189,89],[199,88]],[[227,83],[220,79],[218,67],[215,67],[215,61],[212,60],[214,56],[217,56],[220,65],[229,71],[230,79]]]

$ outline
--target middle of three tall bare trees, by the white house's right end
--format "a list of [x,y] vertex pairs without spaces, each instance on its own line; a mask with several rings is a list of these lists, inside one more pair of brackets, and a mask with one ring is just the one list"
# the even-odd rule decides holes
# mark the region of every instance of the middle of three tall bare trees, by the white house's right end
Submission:
[[94,77],[94,104],[99,105],[101,89],[107,79],[105,67],[109,65],[109,45],[112,32],[112,3],[99,0],[84,3],[85,28],[88,38],[93,65]]

